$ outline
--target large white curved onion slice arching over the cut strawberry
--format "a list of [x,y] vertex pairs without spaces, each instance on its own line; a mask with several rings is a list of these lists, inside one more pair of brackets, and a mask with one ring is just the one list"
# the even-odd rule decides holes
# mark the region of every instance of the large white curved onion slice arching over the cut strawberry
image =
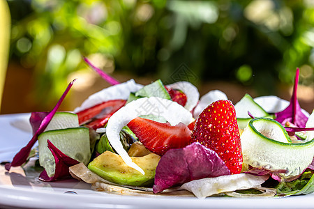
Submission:
[[126,104],[126,106],[121,107],[121,109],[110,117],[107,123],[106,133],[112,148],[117,151],[129,167],[144,174],[144,171],[138,167],[137,164],[132,162],[128,153],[124,150],[119,137],[119,132],[122,127],[127,125],[134,118],[142,115],[162,116],[170,125],[177,125],[179,123],[188,125],[192,120],[192,114],[177,102],[151,97],[134,100]]

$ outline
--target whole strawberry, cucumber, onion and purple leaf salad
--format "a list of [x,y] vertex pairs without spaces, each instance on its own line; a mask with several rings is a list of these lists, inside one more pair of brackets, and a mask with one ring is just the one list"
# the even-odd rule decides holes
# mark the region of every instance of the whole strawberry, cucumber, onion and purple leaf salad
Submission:
[[[124,194],[290,196],[314,192],[314,114],[290,102],[225,93],[200,98],[189,82],[112,84],[73,112],[33,112],[33,137],[10,167],[29,160],[38,141],[43,181],[77,178],[98,191]],[[123,191],[123,192],[122,192]]]

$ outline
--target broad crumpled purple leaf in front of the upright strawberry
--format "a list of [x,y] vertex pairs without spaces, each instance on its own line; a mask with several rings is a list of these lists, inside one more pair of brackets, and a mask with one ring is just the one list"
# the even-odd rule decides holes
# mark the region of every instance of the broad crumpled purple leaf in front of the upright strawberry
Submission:
[[191,180],[229,174],[229,169],[216,152],[195,142],[185,148],[168,150],[161,157],[156,167],[153,192],[162,192]]

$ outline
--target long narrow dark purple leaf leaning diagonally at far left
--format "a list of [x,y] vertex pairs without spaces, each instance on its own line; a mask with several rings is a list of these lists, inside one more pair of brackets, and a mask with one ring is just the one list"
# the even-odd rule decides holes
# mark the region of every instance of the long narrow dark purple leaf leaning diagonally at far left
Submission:
[[31,148],[36,143],[39,134],[44,132],[44,130],[46,129],[47,125],[52,120],[52,117],[54,116],[54,114],[56,114],[57,110],[59,109],[59,107],[60,107],[61,103],[63,102],[64,98],[66,98],[66,95],[68,94],[68,91],[70,91],[70,88],[73,86],[73,83],[75,82],[75,80],[76,79],[74,79],[72,82],[70,82],[70,84],[68,84],[68,87],[66,88],[66,91],[64,91],[64,93],[61,95],[61,98],[57,102],[57,104],[54,107],[54,109],[52,109],[52,111],[50,111],[50,113],[47,114],[47,116],[45,116],[45,118],[43,118],[43,121],[41,121],[41,123],[40,123],[40,125],[38,127],[38,130],[36,130],[35,134],[33,134],[33,137],[31,138],[31,141],[29,141],[27,146],[24,146],[24,148],[22,148],[13,157],[13,161],[11,163],[7,163],[5,165],[7,171],[10,171],[11,167],[19,167],[24,162],[27,161],[27,157],[29,156],[29,153],[31,152]]

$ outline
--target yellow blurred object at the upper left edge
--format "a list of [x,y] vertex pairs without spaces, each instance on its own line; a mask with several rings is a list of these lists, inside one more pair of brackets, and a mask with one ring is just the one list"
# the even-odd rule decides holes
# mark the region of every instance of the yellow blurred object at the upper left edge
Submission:
[[3,94],[6,68],[8,67],[8,53],[10,46],[10,10],[6,1],[0,0],[0,110]]

